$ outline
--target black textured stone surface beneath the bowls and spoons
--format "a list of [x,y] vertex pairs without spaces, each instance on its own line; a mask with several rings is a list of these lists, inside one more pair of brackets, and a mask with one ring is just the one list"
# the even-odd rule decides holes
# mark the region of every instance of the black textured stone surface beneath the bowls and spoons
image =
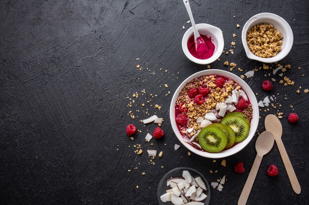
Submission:
[[[278,75],[265,77],[271,70],[255,72],[245,81],[258,93],[258,100],[279,93],[282,140],[302,193],[293,192],[274,145],[262,161],[247,204],[308,205],[309,93],[303,90],[309,88],[309,2],[195,0],[191,7],[196,23],[222,29],[225,51],[236,42],[234,54],[223,54],[211,68],[229,70],[230,66],[223,66],[228,59],[244,70],[232,71],[238,76],[263,65],[246,58],[240,38],[245,22],[257,13],[272,12],[290,24],[294,45],[280,63],[291,64],[284,76],[295,86],[278,84],[283,79]],[[169,121],[172,94],[188,76],[206,69],[183,54],[181,39],[191,27],[188,20],[181,0],[1,0],[0,204],[156,205],[160,178],[180,166],[198,170],[209,182],[227,175],[222,192],[211,189],[211,204],[236,204],[256,155],[257,134],[243,150],[225,158],[227,167],[221,166],[222,159],[213,163],[213,159],[188,156],[184,146],[174,151],[174,144],[180,142]],[[235,39],[232,33],[237,34]],[[138,64],[142,70],[136,68]],[[276,79],[274,89],[263,91],[261,83],[271,78]],[[168,91],[171,94],[165,96]],[[133,92],[139,97],[129,108],[126,96]],[[142,108],[149,99],[151,103]],[[155,104],[162,109],[155,109]],[[139,122],[148,117],[147,108],[150,115],[165,120],[166,134],[153,139],[153,147],[144,137],[155,124]],[[298,113],[298,123],[288,123],[291,112]],[[275,113],[272,108],[260,112],[259,132],[264,131],[265,116]],[[125,134],[129,123],[142,130],[134,141]],[[142,155],[134,153],[134,144],[141,144]],[[149,164],[150,148],[164,152],[155,165]],[[237,161],[244,163],[243,174],[233,172]],[[270,164],[278,167],[277,177],[267,176]]]

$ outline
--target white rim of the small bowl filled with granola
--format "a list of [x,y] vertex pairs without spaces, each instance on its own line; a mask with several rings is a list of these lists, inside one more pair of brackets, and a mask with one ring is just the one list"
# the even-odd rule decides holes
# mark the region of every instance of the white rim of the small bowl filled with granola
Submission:
[[[250,50],[249,47],[247,45],[247,40],[246,40],[246,34],[248,29],[250,29],[252,27],[252,25],[260,18],[266,18],[266,19],[271,19],[271,20],[275,20],[276,22],[278,22],[278,24],[282,25],[282,28],[284,28],[284,30],[287,33],[286,38],[290,39],[289,40],[289,44],[287,44],[287,47],[285,49],[284,52],[282,52],[282,50],[274,57],[272,58],[261,58],[258,57],[256,55],[254,55]],[[255,24],[254,24],[255,25]],[[279,60],[285,58],[291,51],[292,46],[293,46],[293,31],[290,27],[290,25],[280,16],[274,14],[274,13],[259,13],[256,14],[254,16],[252,16],[243,26],[242,32],[241,32],[241,41],[242,41],[242,45],[245,49],[246,55],[248,57],[248,59],[253,59],[253,60],[258,60],[260,62],[265,62],[265,63],[273,63],[273,62],[278,62]],[[284,40],[283,40],[284,41]]]

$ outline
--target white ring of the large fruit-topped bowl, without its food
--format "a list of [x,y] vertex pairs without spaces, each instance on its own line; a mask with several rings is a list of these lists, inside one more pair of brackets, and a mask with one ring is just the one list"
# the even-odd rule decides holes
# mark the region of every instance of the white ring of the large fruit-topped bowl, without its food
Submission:
[[[188,143],[183,141],[183,137],[180,134],[177,124],[176,124],[176,117],[175,117],[175,104],[176,104],[176,100],[177,97],[180,93],[180,91],[182,90],[182,88],[189,83],[190,81],[192,81],[194,78],[198,78],[200,76],[204,76],[204,75],[221,75],[221,76],[225,76],[227,78],[231,78],[232,80],[234,80],[235,82],[237,82],[242,89],[246,92],[251,104],[252,104],[252,109],[253,109],[253,118],[251,120],[251,125],[250,125],[250,129],[249,129],[249,134],[248,137],[242,141],[241,143],[236,144],[235,146],[227,149],[227,150],[223,150],[221,152],[217,152],[217,153],[210,153],[210,152],[206,152],[206,151],[201,151],[196,149],[195,147],[189,145]],[[241,78],[239,78],[238,76],[224,71],[224,70],[217,70],[217,69],[209,69],[209,70],[203,70],[200,72],[197,72],[195,74],[193,74],[192,76],[190,76],[189,78],[187,78],[175,91],[173,98],[172,98],[172,102],[171,102],[171,106],[170,106],[170,120],[171,120],[171,124],[172,124],[172,128],[173,131],[176,135],[176,137],[178,138],[178,140],[184,145],[186,146],[190,151],[192,151],[195,154],[198,154],[200,156],[203,157],[207,157],[207,158],[222,158],[222,157],[227,157],[230,156],[232,154],[237,153],[238,151],[240,151],[241,149],[243,149],[245,146],[248,145],[248,143],[252,140],[257,128],[258,128],[258,124],[259,124],[259,107],[258,107],[258,102],[257,99],[255,97],[255,94],[253,93],[253,91],[251,90],[251,88],[248,86],[248,84],[246,84],[246,82],[244,82]]]

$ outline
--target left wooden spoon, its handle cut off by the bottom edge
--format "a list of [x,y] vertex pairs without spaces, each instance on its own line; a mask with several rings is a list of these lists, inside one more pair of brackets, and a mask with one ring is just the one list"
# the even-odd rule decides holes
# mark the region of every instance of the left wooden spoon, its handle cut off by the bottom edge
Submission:
[[255,177],[259,171],[259,167],[262,161],[262,158],[265,154],[270,152],[274,143],[273,135],[270,131],[264,131],[257,139],[255,143],[255,149],[257,151],[257,155],[255,157],[254,163],[252,165],[250,174],[247,178],[245,186],[242,189],[240,194],[238,205],[245,205],[247,203],[253,182]]

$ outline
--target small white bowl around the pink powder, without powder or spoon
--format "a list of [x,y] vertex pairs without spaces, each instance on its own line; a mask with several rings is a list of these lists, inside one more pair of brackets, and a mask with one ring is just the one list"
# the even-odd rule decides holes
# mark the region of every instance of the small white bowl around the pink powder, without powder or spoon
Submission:
[[203,35],[206,35],[207,37],[211,37],[212,43],[215,45],[214,54],[209,59],[196,59],[194,56],[191,55],[188,49],[188,40],[190,36],[193,35],[192,27],[188,29],[184,34],[184,37],[182,40],[183,51],[185,55],[187,56],[187,58],[195,63],[203,64],[203,65],[212,63],[213,61],[217,60],[221,56],[222,51],[223,51],[224,39],[223,39],[222,30],[219,29],[218,27],[214,27],[209,24],[196,24],[196,29],[198,30],[199,34],[203,34]]

